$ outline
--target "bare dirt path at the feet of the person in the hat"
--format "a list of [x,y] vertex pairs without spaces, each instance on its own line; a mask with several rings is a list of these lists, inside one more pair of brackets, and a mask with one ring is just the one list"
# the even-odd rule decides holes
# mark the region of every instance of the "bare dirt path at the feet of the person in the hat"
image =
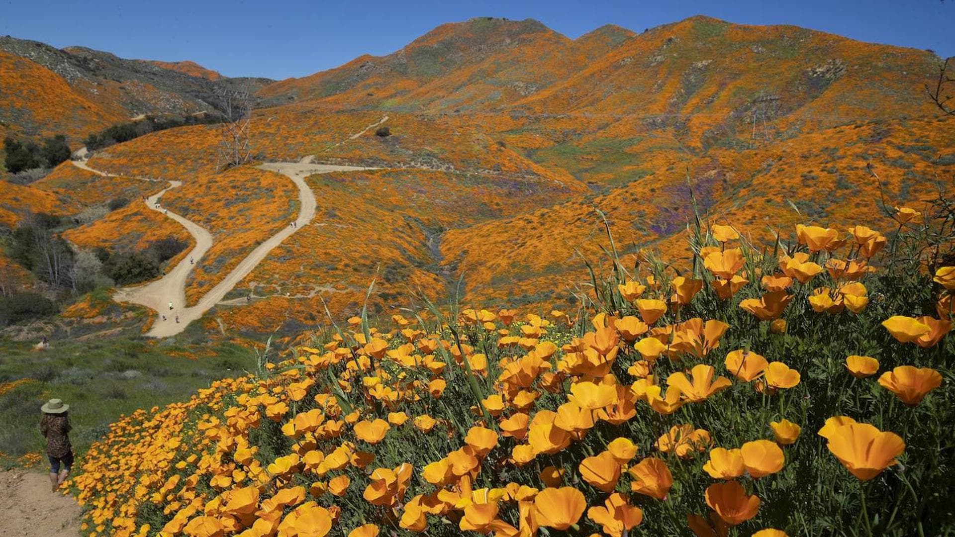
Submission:
[[0,513],[0,535],[5,537],[79,535],[79,505],[72,496],[51,492],[42,472],[0,471]]

